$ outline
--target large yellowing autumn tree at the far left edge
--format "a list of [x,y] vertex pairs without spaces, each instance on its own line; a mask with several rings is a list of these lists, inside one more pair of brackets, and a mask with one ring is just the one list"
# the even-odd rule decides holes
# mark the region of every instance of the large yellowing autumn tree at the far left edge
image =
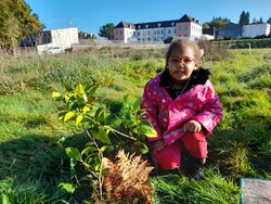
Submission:
[[20,39],[39,33],[44,25],[24,0],[0,1],[0,46],[17,47]]

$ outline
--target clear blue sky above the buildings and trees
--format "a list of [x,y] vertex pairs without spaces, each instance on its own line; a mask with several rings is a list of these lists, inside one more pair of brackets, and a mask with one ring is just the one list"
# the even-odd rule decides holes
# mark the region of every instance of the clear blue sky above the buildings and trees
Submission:
[[271,0],[25,0],[48,29],[78,27],[98,34],[107,23],[178,20],[188,14],[199,21],[228,17],[238,23],[242,11],[266,22],[271,16]]

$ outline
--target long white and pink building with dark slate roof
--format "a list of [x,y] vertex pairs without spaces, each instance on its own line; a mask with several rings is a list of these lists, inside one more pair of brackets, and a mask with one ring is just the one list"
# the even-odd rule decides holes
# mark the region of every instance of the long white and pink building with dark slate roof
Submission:
[[199,40],[202,25],[195,18],[183,15],[180,20],[127,23],[120,22],[114,28],[114,40],[116,42],[164,42],[173,37],[185,37]]

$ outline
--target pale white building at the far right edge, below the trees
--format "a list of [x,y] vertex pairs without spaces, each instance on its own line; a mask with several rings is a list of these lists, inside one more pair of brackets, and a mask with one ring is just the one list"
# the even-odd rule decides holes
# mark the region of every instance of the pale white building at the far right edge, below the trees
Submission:
[[255,38],[256,36],[268,36],[270,34],[269,24],[250,24],[242,27],[242,37]]

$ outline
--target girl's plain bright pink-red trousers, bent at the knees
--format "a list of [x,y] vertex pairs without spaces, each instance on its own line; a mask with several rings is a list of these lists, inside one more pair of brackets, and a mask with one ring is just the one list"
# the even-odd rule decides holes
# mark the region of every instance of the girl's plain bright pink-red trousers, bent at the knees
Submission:
[[175,169],[181,165],[182,145],[195,158],[204,158],[208,154],[206,136],[203,131],[188,132],[180,140],[166,145],[162,151],[153,153],[155,162],[160,168]]

